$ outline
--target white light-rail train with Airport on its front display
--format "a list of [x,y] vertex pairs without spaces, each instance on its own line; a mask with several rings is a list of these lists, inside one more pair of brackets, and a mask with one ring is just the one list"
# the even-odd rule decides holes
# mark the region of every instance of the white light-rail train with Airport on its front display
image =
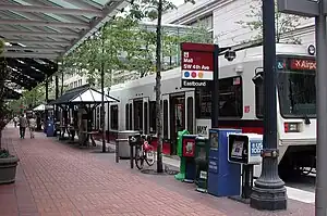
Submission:
[[[314,166],[312,160],[315,157],[316,144],[315,60],[307,55],[306,47],[294,45],[277,45],[277,58],[279,162],[283,161],[282,166],[287,169]],[[259,101],[263,100],[259,97],[262,91],[252,80],[255,72],[262,67],[263,47],[238,51],[232,62],[220,56],[219,105],[222,110],[228,100],[234,100],[232,109],[229,109],[234,111],[230,114],[222,114],[221,111],[219,127],[242,128],[243,132],[263,132],[263,119],[258,115],[262,104]],[[118,98],[120,102],[110,104],[110,135],[125,129],[155,134],[155,75],[149,75],[111,87],[110,96]],[[210,128],[210,96],[206,92],[198,92],[194,88],[181,88],[180,68],[162,72],[165,143],[175,142],[177,127],[207,136]],[[169,145],[171,153],[174,153],[174,144]]]

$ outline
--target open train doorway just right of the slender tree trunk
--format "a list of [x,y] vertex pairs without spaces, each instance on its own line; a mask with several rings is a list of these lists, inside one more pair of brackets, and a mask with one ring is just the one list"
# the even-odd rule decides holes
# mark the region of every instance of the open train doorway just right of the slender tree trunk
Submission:
[[185,94],[170,94],[171,154],[175,154],[178,131],[185,128]]

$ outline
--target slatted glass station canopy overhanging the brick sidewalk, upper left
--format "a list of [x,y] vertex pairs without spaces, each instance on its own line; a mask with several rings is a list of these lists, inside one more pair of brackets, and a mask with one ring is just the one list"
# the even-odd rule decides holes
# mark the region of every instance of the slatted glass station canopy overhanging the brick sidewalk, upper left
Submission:
[[0,0],[10,80],[36,87],[58,71],[58,60],[126,5],[123,0]]

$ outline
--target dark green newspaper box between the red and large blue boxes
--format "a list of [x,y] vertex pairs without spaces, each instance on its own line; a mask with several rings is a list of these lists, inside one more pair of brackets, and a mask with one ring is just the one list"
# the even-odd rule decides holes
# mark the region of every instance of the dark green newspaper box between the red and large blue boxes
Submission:
[[207,192],[208,179],[209,139],[206,137],[195,138],[195,185],[199,192]]

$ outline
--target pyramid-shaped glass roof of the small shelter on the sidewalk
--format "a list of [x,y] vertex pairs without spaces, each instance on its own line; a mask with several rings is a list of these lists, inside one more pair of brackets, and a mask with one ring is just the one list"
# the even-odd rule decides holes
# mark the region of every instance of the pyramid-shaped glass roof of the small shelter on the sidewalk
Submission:
[[[59,99],[51,101],[49,104],[99,104],[101,103],[101,92],[84,85],[66,91]],[[105,94],[105,103],[119,102],[118,99]]]

